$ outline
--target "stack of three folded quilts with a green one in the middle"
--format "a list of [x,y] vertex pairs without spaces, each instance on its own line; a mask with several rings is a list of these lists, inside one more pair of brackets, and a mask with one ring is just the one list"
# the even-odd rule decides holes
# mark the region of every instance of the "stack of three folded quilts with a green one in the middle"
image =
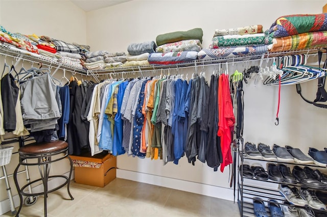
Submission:
[[216,30],[209,48],[198,53],[198,59],[263,55],[272,38],[263,33],[262,25]]

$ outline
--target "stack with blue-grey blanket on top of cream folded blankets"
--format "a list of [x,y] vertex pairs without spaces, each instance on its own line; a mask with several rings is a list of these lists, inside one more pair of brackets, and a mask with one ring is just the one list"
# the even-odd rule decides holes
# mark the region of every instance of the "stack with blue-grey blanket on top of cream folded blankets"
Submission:
[[155,52],[157,47],[154,41],[146,41],[142,43],[132,43],[128,45],[126,62],[124,67],[127,66],[146,66],[150,65],[148,62],[149,54]]

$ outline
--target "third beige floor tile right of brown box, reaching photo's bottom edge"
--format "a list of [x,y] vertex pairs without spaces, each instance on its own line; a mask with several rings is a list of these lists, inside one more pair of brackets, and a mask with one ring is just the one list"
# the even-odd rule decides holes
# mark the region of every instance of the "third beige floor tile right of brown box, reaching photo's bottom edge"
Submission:
[[173,190],[165,204],[165,208],[182,213],[199,216],[210,215],[210,197]]

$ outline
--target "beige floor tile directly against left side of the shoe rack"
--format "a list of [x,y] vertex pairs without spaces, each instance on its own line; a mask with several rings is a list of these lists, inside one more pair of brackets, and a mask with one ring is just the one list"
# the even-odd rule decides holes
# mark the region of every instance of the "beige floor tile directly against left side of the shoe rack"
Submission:
[[219,198],[211,198],[210,216],[234,217],[240,216],[239,206],[232,201]]

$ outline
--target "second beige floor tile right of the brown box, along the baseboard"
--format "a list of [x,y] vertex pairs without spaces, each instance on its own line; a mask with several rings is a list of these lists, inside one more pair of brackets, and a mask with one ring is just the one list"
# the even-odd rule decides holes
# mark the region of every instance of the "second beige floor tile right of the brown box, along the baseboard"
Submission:
[[155,206],[165,206],[165,203],[171,192],[171,188],[147,183],[139,183],[139,185],[128,196],[128,198]]

